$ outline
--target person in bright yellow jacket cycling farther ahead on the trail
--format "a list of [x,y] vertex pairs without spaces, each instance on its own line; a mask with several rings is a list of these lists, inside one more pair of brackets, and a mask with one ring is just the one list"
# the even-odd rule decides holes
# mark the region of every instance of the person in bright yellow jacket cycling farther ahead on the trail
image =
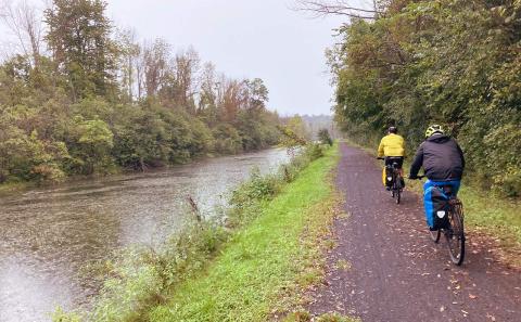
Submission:
[[[405,156],[405,140],[401,136],[398,136],[398,129],[396,127],[390,127],[387,129],[387,134],[382,138],[380,141],[380,145],[378,146],[378,157],[385,156],[385,169],[387,166],[392,166],[393,163],[396,163],[398,166],[399,173],[403,177],[402,167],[404,165],[404,156]],[[391,180],[385,180],[389,178],[389,173],[384,173],[382,176],[383,184],[387,190],[391,190],[393,182]],[[405,186],[404,179],[402,179],[402,186]]]

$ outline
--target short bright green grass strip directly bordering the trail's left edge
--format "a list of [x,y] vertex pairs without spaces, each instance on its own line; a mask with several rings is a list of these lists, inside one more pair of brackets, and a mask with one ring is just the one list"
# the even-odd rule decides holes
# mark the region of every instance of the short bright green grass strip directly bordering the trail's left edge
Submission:
[[233,236],[207,270],[151,310],[150,321],[266,321],[290,309],[297,285],[320,279],[320,269],[313,269],[320,243],[312,242],[330,224],[326,212],[334,193],[328,173],[336,160],[334,147],[313,162],[263,205],[263,214]]

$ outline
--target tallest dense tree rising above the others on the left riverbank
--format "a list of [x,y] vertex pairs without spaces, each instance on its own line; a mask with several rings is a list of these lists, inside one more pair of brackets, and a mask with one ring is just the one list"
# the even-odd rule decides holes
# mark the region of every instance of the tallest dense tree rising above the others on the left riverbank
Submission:
[[114,95],[117,50],[102,0],[53,0],[45,12],[49,49],[73,100]]

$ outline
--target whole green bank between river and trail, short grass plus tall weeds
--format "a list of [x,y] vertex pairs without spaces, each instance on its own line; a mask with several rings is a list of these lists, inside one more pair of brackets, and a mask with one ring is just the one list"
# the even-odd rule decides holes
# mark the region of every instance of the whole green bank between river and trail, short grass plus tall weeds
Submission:
[[[336,147],[309,145],[279,171],[234,190],[215,218],[193,220],[161,249],[106,262],[90,313],[53,321],[264,321],[284,314],[297,286],[320,279],[319,239],[336,205],[329,183]],[[196,218],[192,216],[192,218]]]

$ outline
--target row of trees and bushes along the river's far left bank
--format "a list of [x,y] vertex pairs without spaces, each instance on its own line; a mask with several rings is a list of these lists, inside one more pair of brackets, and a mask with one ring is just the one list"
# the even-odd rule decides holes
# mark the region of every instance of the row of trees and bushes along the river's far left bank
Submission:
[[279,140],[262,79],[117,31],[101,0],[2,9],[18,52],[0,65],[0,183],[144,170]]

